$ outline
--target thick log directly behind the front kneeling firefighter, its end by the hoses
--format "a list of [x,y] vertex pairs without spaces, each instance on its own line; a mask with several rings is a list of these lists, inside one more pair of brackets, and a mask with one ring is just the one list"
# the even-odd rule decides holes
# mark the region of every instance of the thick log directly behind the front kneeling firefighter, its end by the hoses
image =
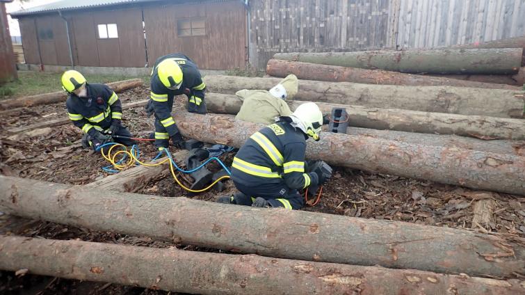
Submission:
[[[174,118],[184,136],[236,148],[264,127],[220,115],[178,112]],[[372,173],[525,195],[525,157],[511,154],[323,133],[321,141],[309,142],[306,155],[309,159],[322,159],[334,166]]]

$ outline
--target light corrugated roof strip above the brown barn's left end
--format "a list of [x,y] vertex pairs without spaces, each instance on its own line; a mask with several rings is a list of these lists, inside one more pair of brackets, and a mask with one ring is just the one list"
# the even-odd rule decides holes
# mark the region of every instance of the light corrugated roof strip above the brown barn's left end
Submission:
[[62,0],[49,3],[42,6],[36,6],[24,10],[18,10],[14,13],[10,13],[13,17],[19,17],[22,15],[32,15],[38,13],[48,13],[58,10],[76,10],[83,8],[95,8],[101,6],[119,5],[125,3],[138,3],[158,0]]

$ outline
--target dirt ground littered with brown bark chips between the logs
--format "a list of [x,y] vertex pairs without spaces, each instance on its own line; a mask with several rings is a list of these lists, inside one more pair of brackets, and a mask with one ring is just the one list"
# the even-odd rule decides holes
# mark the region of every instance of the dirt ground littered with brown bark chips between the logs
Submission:
[[[149,88],[135,88],[119,95],[122,104],[146,99]],[[175,111],[181,109],[181,102]],[[127,109],[124,125],[132,134],[147,137],[154,129],[153,118],[148,118],[143,107]],[[8,129],[35,124],[45,120],[67,118],[65,104],[51,104],[27,108],[23,115],[0,116],[0,172],[4,175],[29,177],[35,180],[64,184],[88,184],[107,176],[102,171],[108,163],[98,154],[79,147],[81,131],[72,124],[46,129],[35,137],[13,137]],[[149,143],[139,143],[141,159],[151,159],[156,150]],[[172,149],[172,152],[175,152]],[[231,164],[234,154],[222,159]],[[217,166],[211,166],[215,170]],[[218,196],[234,193],[231,182],[225,182],[225,191],[209,191],[189,196],[165,173],[146,184],[137,193],[213,201]],[[473,208],[477,200],[492,198],[496,207],[494,218],[488,225],[472,225]],[[458,186],[437,184],[397,177],[364,173],[360,170],[334,167],[332,179],[323,186],[321,200],[304,210],[341,214],[361,218],[387,219],[422,223],[450,228],[474,228],[480,232],[495,232],[525,237],[525,198],[504,193],[472,191]],[[15,234],[48,239],[81,239],[115,244],[131,244],[165,248],[168,242],[152,241],[145,237],[129,237],[109,232],[94,232],[85,228],[72,228],[56,223],[30,221],[24,218],[0,215],[0,234]],[[188,250],[212,250],[195,246],[175,245]],[[45,276],[15,276],[0,272],[0,294],[169,294],[140,287],[80,282]],[[173,293],[171,293],[173,294]]]

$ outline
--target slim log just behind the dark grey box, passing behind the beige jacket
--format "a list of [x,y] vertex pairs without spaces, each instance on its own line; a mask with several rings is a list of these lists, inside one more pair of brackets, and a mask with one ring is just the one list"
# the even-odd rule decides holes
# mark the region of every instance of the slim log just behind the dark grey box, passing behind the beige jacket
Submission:
[[[304,102],[289,100],[290,109],[295,110]],[[208,93],[207,109],[211,113],[239,113],[243,101],[236,95]],[[344,104],[316,103],[323,113],[333,108],[345,108],[348,125],[371,129],[391,129],[430,134],[456,134],[477,138],[525,139],[525,121],[521,119],[494,118],[449,113],[427,113],[403,109],[369,108]]]

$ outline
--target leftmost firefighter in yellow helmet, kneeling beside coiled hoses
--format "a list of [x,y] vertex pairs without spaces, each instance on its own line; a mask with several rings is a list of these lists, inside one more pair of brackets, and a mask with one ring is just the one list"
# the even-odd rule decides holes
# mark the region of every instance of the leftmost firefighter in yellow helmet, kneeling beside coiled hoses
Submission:
[[[62,75],[62,87],[68,93],[67,114],[84,136],[82,146],[98,151],[104,143],[134,145],[131,134],[122,126],[122,104],[117,94],[102,83],[87,83],[75,70]],[[115,138],[111,138],[111,136]],[[119,137],[117,137],[119,136]],[[125,138],[121,138],[125,137]],[[108,147],[109,148],[109,147]]]

